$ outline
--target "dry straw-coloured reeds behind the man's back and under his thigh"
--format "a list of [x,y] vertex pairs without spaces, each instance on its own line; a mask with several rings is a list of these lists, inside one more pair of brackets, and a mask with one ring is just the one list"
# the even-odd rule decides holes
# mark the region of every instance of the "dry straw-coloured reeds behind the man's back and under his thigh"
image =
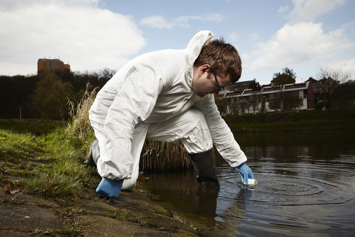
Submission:
[[[87,135],[93,134],[89,121],[89,109],[94,103],[97,88],[89,92],[90,90],[91,86],[87,84],[85,94],[76,110],[74,104],[69,101],[72,123],[69,124],[68,129],[71,134],[79,134],[81,139],[85,139]],[[144,141],[139,162],[140,171],[162,172],[190,167],[192,167],[190,156],[181,141],[175,143]]]

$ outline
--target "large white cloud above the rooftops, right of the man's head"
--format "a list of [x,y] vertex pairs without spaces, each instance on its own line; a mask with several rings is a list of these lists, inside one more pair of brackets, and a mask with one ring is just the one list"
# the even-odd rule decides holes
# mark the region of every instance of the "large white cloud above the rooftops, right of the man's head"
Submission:
[[280,70],[289,65],[327,64],[345,50],[354,49],[343,28],[324,33],[322,23],[285,24],[273,38],[259,43],[251,53],[242,55],[248,72],[261,69]]

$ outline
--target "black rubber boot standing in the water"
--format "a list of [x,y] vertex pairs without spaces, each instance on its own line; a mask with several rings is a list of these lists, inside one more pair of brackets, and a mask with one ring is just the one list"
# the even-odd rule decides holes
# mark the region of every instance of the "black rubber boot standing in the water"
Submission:
[[202,187],[219,188],[213,147],[208,151],[190,154],[190,157],[193,168],[197,173],[197,182],[199,182]]

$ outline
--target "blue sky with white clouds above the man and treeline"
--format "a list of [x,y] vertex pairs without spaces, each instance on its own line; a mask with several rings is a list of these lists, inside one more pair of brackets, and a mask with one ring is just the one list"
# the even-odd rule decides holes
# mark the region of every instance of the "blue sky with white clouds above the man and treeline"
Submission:
[[238,50],[240,81],[288,67],[300,83],[327,66],[354,79],[354,12],[355,0],[0,0],[0,75],[36,74],[39,58],[119,70],[210,30]]

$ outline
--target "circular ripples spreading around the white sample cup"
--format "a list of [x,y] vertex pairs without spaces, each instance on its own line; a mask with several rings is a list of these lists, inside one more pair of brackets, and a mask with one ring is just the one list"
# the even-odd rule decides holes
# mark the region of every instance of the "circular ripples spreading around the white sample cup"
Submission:
[[[225,199],[245,199],[251,205],[324,205],[346,203],[354,199],[355,192],[342,184],[277,174],[257,174],[258,184],[244,185],[240,177],[226,175],[221,179],[219,196]],[[254,191],[246,197],[240,189]]]

